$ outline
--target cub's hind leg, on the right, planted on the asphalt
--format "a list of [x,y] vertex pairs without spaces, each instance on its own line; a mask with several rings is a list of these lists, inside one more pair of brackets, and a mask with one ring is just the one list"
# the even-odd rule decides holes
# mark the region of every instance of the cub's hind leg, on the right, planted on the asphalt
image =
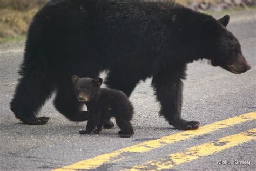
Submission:
[[133,127],[130,121],[123,120],[122,118],[116,117],[116,122],[121,131],[118,132],[120,137],[128,138],[134,134]]

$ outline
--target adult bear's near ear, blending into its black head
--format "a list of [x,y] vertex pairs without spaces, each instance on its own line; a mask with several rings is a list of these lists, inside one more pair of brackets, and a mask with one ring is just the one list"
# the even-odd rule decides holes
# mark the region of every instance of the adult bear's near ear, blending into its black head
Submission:
[[204,21],[204,33],[206,35],[216,36],[219,30],[217,20],[210,18]]

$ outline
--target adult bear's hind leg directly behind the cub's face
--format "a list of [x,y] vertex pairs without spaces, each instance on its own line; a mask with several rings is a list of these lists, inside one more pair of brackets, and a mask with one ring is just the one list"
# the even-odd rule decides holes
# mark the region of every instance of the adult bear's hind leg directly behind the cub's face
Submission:
[[87,111],[81,111],[83,104],[77,100],[71,79],[59,85],[54,105],[61,114],[71,121],[87,120]]

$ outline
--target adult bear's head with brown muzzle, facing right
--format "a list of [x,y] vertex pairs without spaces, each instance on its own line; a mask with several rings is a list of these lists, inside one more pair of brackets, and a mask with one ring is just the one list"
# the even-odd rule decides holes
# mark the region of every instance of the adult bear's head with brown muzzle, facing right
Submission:
[[251,66],[243,56],[237,38],[226,29],[229,20],[230,16],[226,15],[219,20],[211,18],[204,21],[201,32],[203,55],[213,66],[240,74],[251,69]]

